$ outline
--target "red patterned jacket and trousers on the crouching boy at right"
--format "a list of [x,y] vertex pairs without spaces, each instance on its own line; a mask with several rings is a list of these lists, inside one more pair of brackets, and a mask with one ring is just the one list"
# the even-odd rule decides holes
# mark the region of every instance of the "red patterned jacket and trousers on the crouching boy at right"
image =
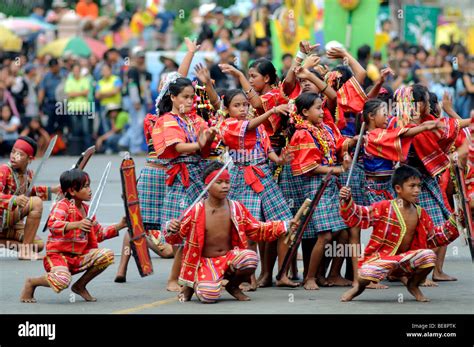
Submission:
[[418,224],[410,250],[400,253],[398,248],[407,226],[396,200],[384,200],[371,206],[356,205],[352,199],[340,200],[340,214],[349,227],[373,227],[364,256],[359,261],[359,277],[378,282],[389,273],[401,276],[417,268],[434,267],[436,255],[429,248],[447,245],[459,236],[453,215],[444,225],[434,226],[428,213],[420,206],[416,207]]

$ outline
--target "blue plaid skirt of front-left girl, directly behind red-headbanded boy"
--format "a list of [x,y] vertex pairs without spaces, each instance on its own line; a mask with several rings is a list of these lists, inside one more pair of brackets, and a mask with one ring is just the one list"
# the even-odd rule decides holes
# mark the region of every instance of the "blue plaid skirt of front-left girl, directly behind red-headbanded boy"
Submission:
[[163,201],[163,210],[161,213],[160,224],[162,227],[171,219],[177,219],[201,194],[204,190],[204,182],[202,180],[202,169],[200,159],[196,156],[179,157],[173,160],[172,164],[186,163],[189,172],[189,187],[183,185],[181,174],[176,176],[172,186],[166,186],[166,194]]

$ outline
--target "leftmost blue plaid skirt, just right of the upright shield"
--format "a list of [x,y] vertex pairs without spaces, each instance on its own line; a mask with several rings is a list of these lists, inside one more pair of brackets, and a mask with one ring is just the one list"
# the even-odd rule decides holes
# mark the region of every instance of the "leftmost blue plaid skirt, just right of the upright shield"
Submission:
[[165,170],[145,166],[137,182],[143,224],[155,224],[158,230],[161,230],[160,215],[166,194],[165,181]]

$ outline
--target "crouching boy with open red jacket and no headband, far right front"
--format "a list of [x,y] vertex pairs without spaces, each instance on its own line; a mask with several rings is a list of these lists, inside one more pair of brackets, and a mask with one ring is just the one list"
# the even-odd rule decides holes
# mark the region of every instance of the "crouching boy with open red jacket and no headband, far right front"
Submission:
[[373,227],[370,241],[359,262],[358,283],[343,294],[351,301],[373,282],[388,275],[407,276],[407,289],[417,301],[429,301],[419,286],[433,270],[436,254],[432,248],[454,241],[459,232],[456,216],[443,225],[434,226],[428,213],[416,205],[421,192],[421,173],[411,166],[401,166],[392,176],[397,198],[376,202],[371,206],[356,205],[350,188],[340,191],[340,213],[350,227]]

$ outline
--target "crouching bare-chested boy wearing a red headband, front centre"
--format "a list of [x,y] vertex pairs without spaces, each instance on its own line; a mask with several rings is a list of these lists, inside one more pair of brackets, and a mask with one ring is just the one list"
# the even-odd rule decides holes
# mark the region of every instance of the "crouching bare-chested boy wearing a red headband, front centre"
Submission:
[[[209,184],[222,168],[212,162],[204,170],[204,182]],[[230,175],[227,170],[209,189],[209,197],[200,201],[180,223],[169,223],[165,237],[171,244],[186,240],[179,283],[184,285],[181,296],[189,301],[196,292],[204,303],[214,303],[220,297],[222,280],[229,282],[226,290],[239,301],[250,298],[239,285],[248,281],[258,265],[257,254],[248,249],[248,241],[274,241],[285,235],[293,221],[258,222],[238,201],[228,200]]]

